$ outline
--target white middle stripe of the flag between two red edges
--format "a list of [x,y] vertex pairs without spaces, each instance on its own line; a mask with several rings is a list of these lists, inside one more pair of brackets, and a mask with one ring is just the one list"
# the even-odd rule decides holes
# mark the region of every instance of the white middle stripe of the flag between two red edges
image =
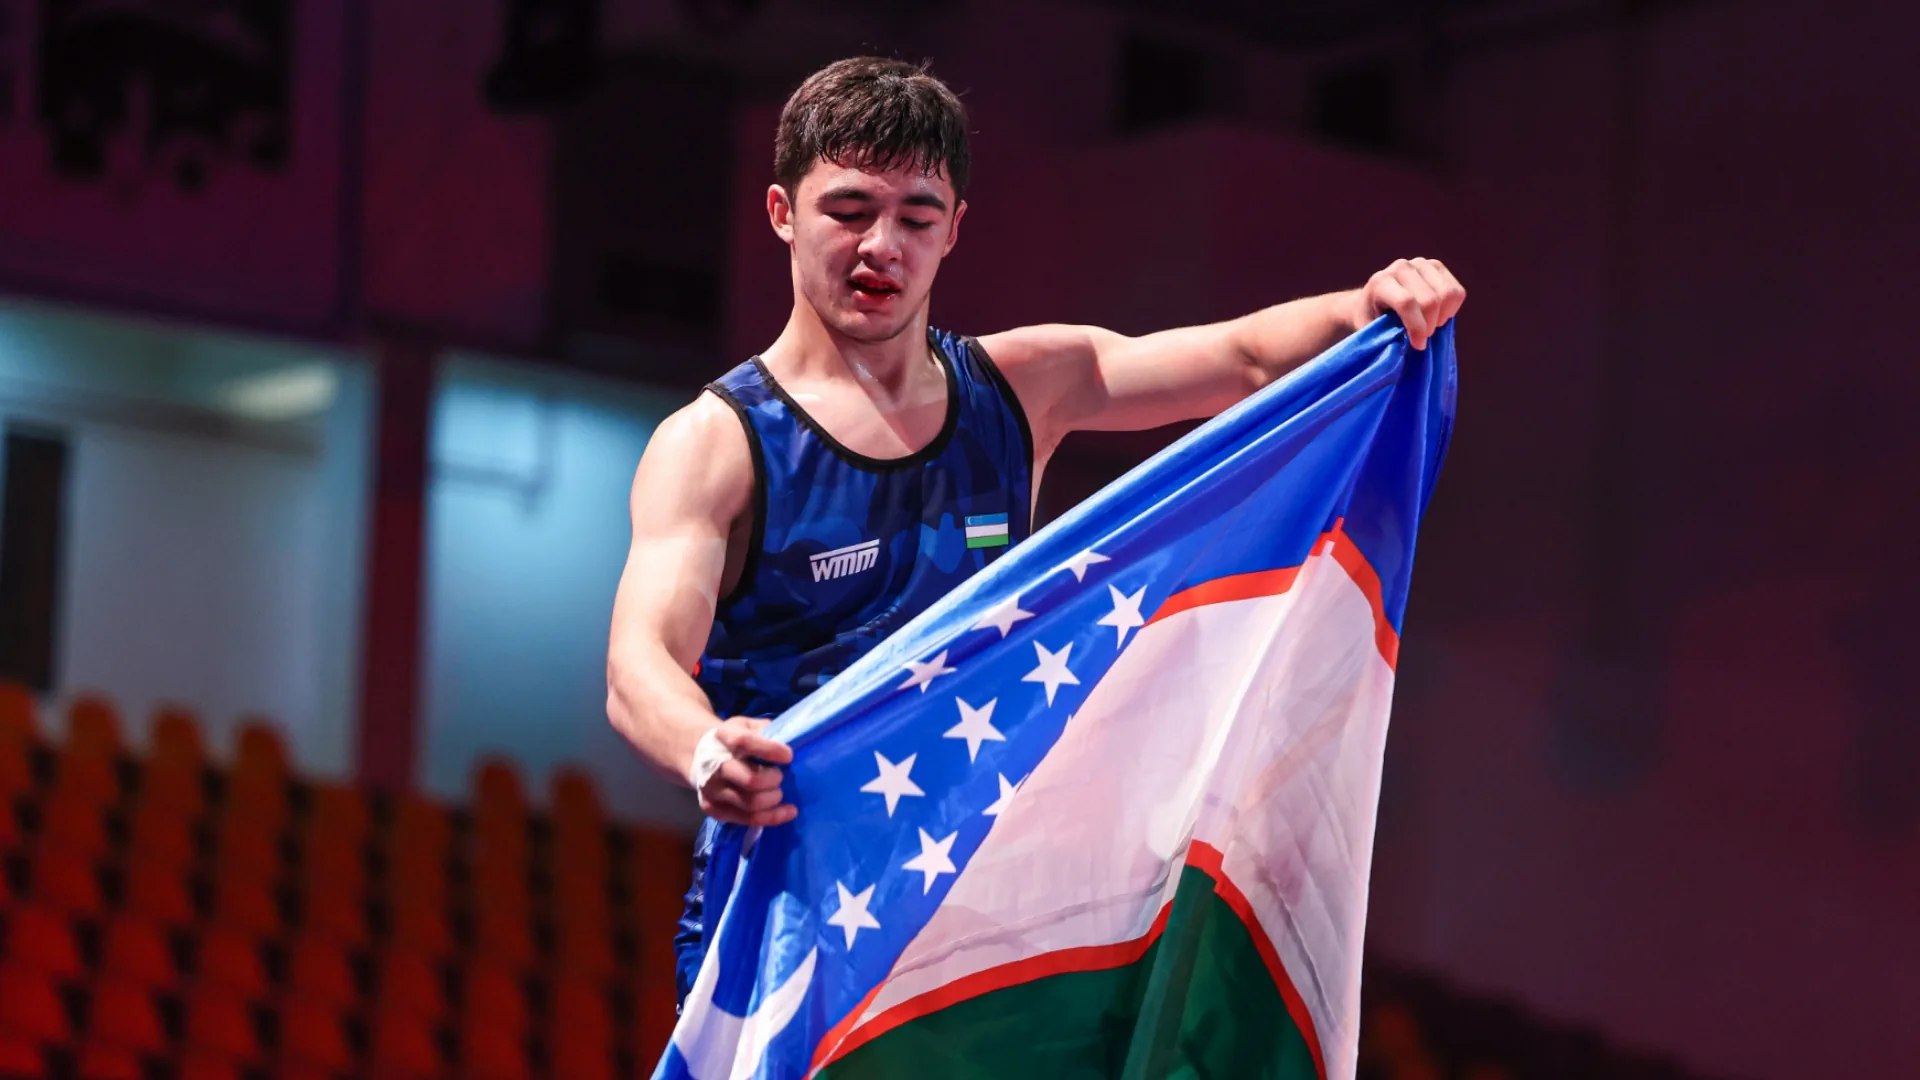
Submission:
[[1142,628],[862,1022],[1006,963],[1140,938],[1204,840],[1306,999],[1327,1076],[1352,1076],[1392,684],[1373,603],[1329,555],[1281,596]]

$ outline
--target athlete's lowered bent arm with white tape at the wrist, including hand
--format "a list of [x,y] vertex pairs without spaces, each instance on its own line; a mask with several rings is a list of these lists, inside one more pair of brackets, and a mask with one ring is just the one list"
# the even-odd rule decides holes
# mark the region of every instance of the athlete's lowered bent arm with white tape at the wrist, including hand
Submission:
[[[726,578],[728,536],[751,513],[749,454],[739,419],[710,394],[647,440],[628,500],[634,544],[612,601],[607,719],[655,771],[699,786],[708,817],[781,824],[795,809],[780,801],[778,767],[793,751],[756,734],[766,721],[722,723],[691,676]],[[714,738],[703,746],[707,732]]]

